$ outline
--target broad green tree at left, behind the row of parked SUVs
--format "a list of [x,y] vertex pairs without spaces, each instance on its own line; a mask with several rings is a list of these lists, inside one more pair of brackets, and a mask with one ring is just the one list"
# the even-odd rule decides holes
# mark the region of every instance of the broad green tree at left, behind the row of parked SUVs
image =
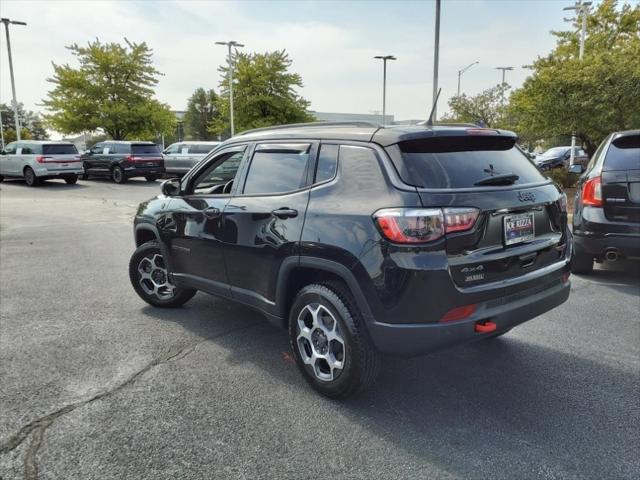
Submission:
[[66,134],[102,130],[114,140],[148,138],[170,132],[175,117],[169,106],[152,98],[160,75],[146,43],[67,47],[79,68],[53,64],[54,85],[44,106],[51,127]]

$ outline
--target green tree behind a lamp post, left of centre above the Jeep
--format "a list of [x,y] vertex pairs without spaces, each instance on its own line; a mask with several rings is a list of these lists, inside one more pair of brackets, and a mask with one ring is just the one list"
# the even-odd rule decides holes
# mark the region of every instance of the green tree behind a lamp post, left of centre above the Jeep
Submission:
[[[289,72],[291,63],[284,50],[235,53],[233,103],[237,132],[314,120],[307,113],[309,102],[296,92],[296,88],[302,88],[302,78],[297,73]],[[209,126],[211,133],[223,136],[228,136],[231,130],[227,68],[218,68],[222,75],[218,97],[219,116]]]

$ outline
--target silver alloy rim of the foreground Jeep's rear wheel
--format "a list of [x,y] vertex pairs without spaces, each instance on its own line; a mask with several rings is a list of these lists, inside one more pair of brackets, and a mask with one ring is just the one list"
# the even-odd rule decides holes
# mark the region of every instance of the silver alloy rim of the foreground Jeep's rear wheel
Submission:
[[337,378],[345,363],[346,348],[335,317],[324,306],[313,303],[298,315],[298,348],[305,365],[318,380]]

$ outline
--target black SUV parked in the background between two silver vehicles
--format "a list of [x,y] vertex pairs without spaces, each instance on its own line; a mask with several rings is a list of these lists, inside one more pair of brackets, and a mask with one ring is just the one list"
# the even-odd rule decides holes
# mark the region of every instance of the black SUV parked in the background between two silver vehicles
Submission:
[[164,174],[160,147],[152,142],[105,141],[96,143],[82,155],[83,179],[89,176],[111,178],[124,183],[129,178],[144,177],[155,182]]

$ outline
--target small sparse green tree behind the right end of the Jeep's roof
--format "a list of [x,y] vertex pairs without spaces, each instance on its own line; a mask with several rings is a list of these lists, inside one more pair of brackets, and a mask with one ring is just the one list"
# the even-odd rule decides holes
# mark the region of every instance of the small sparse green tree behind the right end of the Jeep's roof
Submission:
[[449,100],[452,119],[485,127],[501,127],[504,124],[503,99],[508,88],[507,84],[496,85],[475,96],[467,96],[463,93],[452,97]]

